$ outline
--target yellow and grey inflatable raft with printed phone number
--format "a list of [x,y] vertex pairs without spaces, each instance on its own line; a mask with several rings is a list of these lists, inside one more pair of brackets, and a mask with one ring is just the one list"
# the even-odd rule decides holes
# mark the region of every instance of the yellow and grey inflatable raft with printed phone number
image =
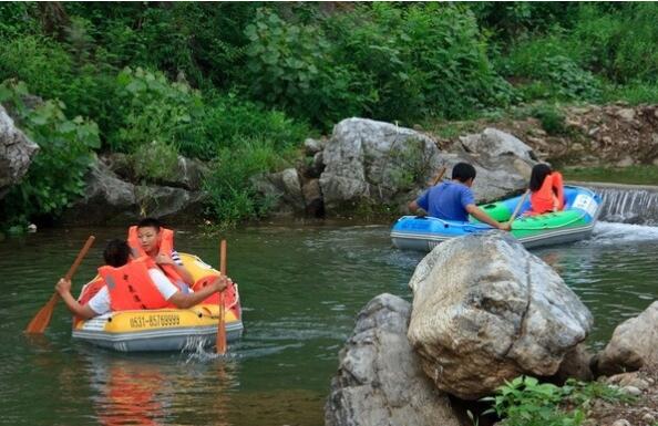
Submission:
[[[179,253],[195,285],[219,271],[192,254]],[[97,277],[94,279],[96,280]],[[91,282],[93,282],[92,280]],[[91,283],[90,282],[90,283]],[[89,284],[88,284],[89,285]],[[82,289],[81,295],[86,287]],[[218,295],[189,309],[157,309],[110,312],[83,321],[74,318],[73,337],[91,344],[121,351],[181,351],[215,344],[219,321]],[[237,284],[224,291],[226,339],[243,334],[241,308]]]

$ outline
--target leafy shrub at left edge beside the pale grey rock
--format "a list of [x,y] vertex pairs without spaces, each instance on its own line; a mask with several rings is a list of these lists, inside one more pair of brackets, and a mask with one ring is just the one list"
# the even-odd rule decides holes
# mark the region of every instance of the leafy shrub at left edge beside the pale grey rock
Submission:
[[55,217],[83,194],[84,175],[100,147],[99,128],[92,121],[66,118],[62,102],[47,101],[33,110],[22,98],[24,83],[6,81],[0,102],[13,113],[17,124],[40,146],[27,175],[3,199],[3,220],[17,217]]

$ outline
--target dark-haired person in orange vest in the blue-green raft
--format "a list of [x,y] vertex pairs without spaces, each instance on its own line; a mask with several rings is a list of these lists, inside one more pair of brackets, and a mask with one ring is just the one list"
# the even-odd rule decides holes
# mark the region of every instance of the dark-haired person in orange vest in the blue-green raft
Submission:
[[531,209],[528,215],[559,211],[564,208],[564,185],[562,175],[551,170],[546,164],[533,167],[530,181]]

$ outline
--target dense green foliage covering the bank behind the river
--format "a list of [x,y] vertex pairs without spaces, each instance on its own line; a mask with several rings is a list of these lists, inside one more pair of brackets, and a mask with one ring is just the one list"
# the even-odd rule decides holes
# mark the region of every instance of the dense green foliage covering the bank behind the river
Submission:
[[[213,160],[208,214],[237,221],[268,205],[250,176],[348,116],[413,125],[539,103],[559,133],[555,103],[657,102],[657,20],[651,2],[8,2],[0,82],[59,108],[49,120],[96,123],[90,152]],[[42,147],[39,162],[54,153]],[[68,202],[80,190],[65,185]],[[24,195],[0,221],[66,202]]]

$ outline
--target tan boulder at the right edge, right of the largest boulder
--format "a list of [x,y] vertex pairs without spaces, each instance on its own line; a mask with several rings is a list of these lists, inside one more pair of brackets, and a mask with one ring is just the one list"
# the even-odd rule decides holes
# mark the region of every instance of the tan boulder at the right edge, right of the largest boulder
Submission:
[[658,365],[658,301],[636,318],[619,324],[613,339],[597,355],[597,368],[610,375]]

